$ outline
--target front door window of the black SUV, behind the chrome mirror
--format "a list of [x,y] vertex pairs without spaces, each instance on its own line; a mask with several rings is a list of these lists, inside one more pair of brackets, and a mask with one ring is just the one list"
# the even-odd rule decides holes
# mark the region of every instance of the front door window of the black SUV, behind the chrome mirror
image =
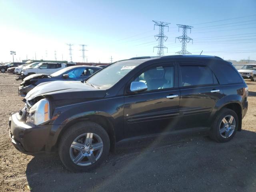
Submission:
[[140,74],[134,81],[144,82],[148,91],[174,87],[174,66],[150,68]]

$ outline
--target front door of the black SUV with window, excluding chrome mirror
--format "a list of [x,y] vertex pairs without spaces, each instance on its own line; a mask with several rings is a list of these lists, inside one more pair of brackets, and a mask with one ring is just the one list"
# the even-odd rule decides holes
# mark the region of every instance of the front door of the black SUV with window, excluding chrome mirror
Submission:
[[124,135],[127,138],[178,129],[177,74],[177,66],[171,62],[148,68],[131,80],[144,82],[148,90],[124,96]]

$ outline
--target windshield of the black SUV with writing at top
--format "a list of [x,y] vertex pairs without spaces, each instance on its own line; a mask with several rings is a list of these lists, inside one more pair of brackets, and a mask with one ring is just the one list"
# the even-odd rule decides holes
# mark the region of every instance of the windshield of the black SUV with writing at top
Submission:
[[128,72],[133,70],[141,62],[128,62],[120,61],[116,62],[100,72],[96,73],[85,83],[95,85],[99,88],[108,89],[122,79]]

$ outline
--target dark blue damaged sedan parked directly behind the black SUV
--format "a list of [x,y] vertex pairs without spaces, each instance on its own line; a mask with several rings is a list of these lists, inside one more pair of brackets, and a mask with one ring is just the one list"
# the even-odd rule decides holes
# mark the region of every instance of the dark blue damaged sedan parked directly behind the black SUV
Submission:
[[32,74],[23,79],[23,82],[19,87],[19,94],[22,97],[25,97],[26,94],[32,90],[35,86],[43,82],[49,81],[80,81],[88,76],[94,74],[96,71],[102,68],[96,66],[71,66],[63,68],[51,75],[47,74]]

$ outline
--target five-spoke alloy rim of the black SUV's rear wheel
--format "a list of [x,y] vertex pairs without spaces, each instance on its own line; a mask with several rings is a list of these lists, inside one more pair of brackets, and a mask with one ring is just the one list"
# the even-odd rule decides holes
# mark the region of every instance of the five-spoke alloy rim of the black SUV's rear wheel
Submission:
[[225,116],[220,123],[220,135],[229,138],[235,131],[236,120],[232,115]]

